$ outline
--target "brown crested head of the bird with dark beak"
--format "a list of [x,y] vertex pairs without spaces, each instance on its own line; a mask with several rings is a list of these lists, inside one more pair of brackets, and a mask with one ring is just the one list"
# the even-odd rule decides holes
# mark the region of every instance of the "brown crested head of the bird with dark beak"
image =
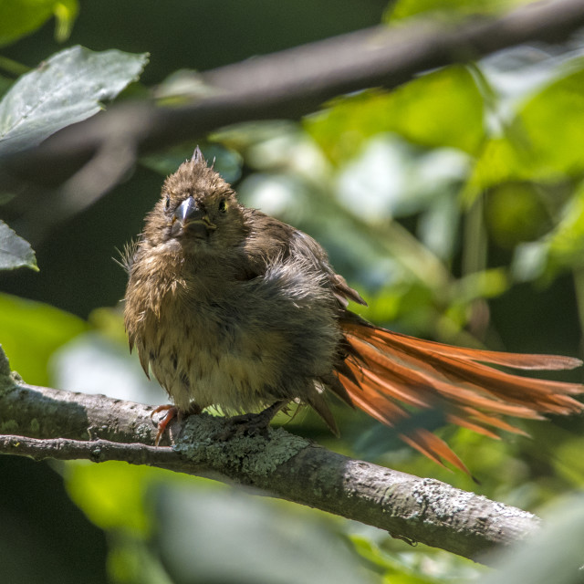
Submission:
[[162,186],[161,200],[148,214],[143,238],[150,245],[176,242],[184,253],[240,245],[247,234],[244,207],[235,192],[197,148],[190,161]]

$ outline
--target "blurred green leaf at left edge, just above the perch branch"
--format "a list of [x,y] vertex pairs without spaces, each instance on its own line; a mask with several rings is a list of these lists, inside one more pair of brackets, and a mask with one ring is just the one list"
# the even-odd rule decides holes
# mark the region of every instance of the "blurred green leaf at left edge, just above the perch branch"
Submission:
[[61,345],[87,330],[81,318],[41,302],[0,294],[0,344],[13,370],[47,385],[47,363]]

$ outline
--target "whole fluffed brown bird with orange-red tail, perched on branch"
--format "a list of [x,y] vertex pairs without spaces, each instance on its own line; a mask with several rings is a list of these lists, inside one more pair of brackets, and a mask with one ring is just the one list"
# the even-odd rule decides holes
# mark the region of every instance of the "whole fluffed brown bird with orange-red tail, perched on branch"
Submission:
[[575,397],[583,385],[506,370],[569,370],[577,358],[455,347],[358,316],[349,302],[365,300],[323,247],[239,203],[198,147],[166,178],[123,264],[130,351],[174,404],[154,410],[168,411],[157,444],[174,416],[211,406],[233,433],[254,434],[290,404],[308,405],[338,435],[328,401],[336,396],[437,464],[469,473],[443,439],[409,427],[414,412],[440,408],[446,422],[498,438],[525,433],[513,418],[584,409]]

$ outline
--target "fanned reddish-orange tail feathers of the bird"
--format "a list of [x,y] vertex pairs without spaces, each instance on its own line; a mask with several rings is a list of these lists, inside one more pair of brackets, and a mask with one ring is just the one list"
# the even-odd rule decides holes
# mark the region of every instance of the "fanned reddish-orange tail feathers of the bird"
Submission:
[[[350,400],[389,426],[407,426],[412,409],[442,408],[446,421],[498,438],[493,429],[524,432],[502,416],[541,419],[542,414],[581,412],[572,396],[578,383],[521,377],[493,366],[521,370],[568,370],[579,359],[463,349],[415,339],[348,320],[342,322],[348,357],[338,368]],[[460,458],[425,429],[401,433],[401,439],[438,464],[447,461],[465,473]]]

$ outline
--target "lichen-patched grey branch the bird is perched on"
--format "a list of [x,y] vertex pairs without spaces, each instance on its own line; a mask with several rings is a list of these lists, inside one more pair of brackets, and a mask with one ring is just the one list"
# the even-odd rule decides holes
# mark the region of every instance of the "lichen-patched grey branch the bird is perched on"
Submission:
[[130,401],[27,385],[9,374],[0,354],[0,432],[14,434],[0,437],[2,454],[120,460],[250,485],[478,561],[489,548],[509,545],[539,525],[515,507],[352,460],[282,428],[267,440],[224,442],[214,438],[224,432],[224,418],[193,415],[171,425],[172,448],[155,448],[150,412]]

